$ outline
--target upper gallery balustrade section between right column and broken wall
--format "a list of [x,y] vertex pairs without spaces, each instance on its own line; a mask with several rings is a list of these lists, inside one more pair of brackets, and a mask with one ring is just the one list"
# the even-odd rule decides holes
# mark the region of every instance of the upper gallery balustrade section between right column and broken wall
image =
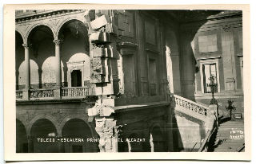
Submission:
[[88,87],[70,87],[62,88],[62,97],[63,98],[78,98],[89,96]]

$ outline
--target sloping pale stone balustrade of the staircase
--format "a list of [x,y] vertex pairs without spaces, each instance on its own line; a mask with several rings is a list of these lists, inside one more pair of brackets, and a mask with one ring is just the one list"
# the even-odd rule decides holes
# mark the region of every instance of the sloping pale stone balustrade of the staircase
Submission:
[[186,111],[193,112],[195,115],[206,117],[209,107],[205,107],[199,103],[195,103],[194,101],[187,100],[182,96],[173,96],[174,102],[176,106],[182,107],[186,109]]

